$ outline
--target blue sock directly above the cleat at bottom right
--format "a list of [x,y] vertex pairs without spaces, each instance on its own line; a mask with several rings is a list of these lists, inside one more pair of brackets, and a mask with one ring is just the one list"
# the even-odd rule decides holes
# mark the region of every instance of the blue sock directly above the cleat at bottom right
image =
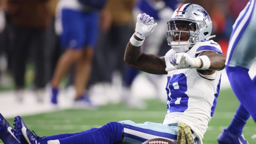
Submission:
[[249,117],[250,114],[248,111],[244,108],[244,106],[240,104],[233,120],[227,128],[228,131],[233,135],[241,135],[244,125],[246,124],[246,121]]

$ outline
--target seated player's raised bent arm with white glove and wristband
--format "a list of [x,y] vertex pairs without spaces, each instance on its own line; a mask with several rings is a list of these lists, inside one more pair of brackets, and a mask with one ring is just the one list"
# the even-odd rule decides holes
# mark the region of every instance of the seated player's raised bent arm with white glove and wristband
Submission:
[[124,61],[128,66],[147,73],[166,74],[164,57],[145,54],[140,47],[145,37],[154,31],[156,25],[154,18],[148,14],[144,13],[137,16],[135,33],[126,46]]

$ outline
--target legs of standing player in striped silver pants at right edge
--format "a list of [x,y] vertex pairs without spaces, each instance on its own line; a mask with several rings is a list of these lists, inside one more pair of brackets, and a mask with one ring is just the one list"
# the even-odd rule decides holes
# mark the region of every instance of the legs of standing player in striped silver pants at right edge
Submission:
[[249,0],[233,25],[230,37],[226,72],[232,90],[240,105],[230,125],[218,136],[219,144],[248,144],[242,135],[244,125],[251,116],[256,122],[256,76],[250,78],[248,71],[256,58],[256,2]]

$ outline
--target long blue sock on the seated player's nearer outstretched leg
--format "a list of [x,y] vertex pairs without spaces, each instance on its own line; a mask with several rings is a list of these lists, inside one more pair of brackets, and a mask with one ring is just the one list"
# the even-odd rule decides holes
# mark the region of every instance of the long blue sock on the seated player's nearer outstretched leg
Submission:
[[96,130],[59,139],[59,142],[60,144],[116,144],[121,140],[122,130],[121,123],[110,122]]

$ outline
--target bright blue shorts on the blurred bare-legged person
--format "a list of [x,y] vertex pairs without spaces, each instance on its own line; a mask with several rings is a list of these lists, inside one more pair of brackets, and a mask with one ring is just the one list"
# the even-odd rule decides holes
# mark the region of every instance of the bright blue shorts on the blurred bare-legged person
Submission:
[[97,12],[62,9],[61,47],[82,50],[95,47],[99,28]]

